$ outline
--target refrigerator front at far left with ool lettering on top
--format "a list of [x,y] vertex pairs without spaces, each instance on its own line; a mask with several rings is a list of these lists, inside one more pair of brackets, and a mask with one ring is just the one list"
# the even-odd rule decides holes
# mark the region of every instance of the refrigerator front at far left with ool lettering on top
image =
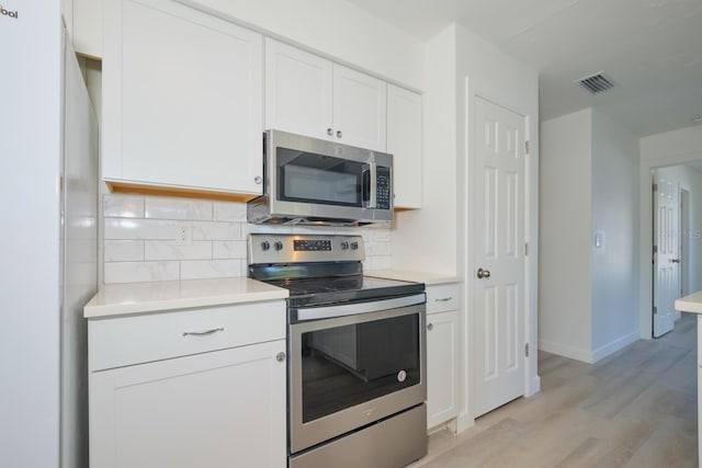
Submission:
[[60,2],[12,2],[0,15],[0,461],[59,457]]

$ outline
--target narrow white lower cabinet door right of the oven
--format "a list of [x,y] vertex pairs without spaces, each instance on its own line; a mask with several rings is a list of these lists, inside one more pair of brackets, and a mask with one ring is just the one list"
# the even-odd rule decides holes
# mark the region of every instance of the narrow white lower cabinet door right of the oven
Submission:
[[427,316],[427,427],[458,414],[456,311]]

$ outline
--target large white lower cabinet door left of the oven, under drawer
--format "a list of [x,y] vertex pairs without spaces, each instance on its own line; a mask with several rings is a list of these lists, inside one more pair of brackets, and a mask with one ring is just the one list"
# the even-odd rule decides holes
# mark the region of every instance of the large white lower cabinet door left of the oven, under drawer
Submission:
[[92,373],[90,466],[285,467],[285,340]]

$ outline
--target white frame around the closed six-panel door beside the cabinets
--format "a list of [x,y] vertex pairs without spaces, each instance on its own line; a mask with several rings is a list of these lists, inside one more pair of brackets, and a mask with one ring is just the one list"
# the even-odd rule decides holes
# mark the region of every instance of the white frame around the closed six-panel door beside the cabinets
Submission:
[[458,269],[464,277],[462,290],[462,308],[465,311],[463,323],[461,323],[462,334],[462,402],[461,413],[456,420],[456,432],[462,432],[474,424],[475,408],[474,401],[474,350],[472,346],[472,332],[474,330],[473,320],[473,297],[476,287],[474,272],[477,269],[475,246],[471,235],[477,227],[473,222],[476,197],[473,193],[475,178],[475,100],[485,99],[501,107],[505,107],[524,118],[524,140],[529,141],[529,151],[525,152],[525,220],[524,220],[524,242],[529,244],[529,254],[524,258],[524,333],[525,343],[530,346],[530,355],[525,358],[524,368],[524,396],[529,397],[541,390],[541,379],[537,375],[537,259],[539,259],[539,115],[534,113],[537,109],[535,103],[520,103],[517,96],[505,99],[505,94],[497,95],[496,91],[490,91],[490,85],[476,85],[479,80],[472,81],[469,76],[464,76],[463,83],[457,83],[458,102],[463,102],[463,112],[457,113],[457,126],[463,132],[457,132],[457,167],[458,167]]

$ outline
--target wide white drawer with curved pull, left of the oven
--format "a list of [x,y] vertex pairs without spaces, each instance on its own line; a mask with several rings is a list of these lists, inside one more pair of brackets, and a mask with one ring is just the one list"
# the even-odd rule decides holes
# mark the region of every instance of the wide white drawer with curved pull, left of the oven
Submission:
[[88,322],[90,370],[285,338],[282,300],[173,310]]

